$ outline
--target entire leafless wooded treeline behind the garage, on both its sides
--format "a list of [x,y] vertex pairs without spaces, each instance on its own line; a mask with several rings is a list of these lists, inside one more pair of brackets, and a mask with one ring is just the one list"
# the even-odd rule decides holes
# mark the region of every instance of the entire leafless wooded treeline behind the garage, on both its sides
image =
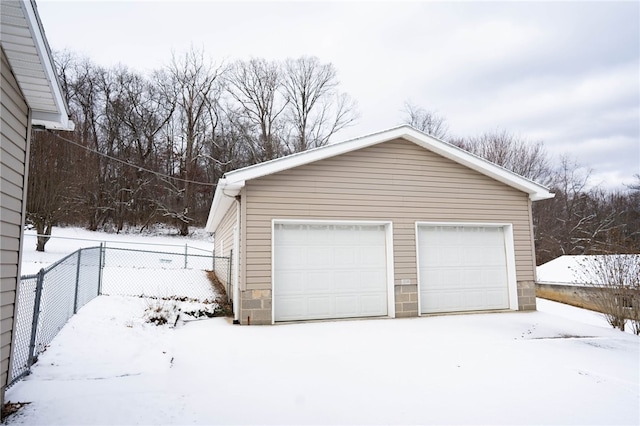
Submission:
[[[55,58],[76,128],[32,134],[27,219],[42,235],[57,224],[119,232],[156,223],[186,235],[204,225],[225,172],[326,145],[357,118],[334,66],[315,57],[215,64],[191,50],[148,74]],[[640,177],[627,190],[590,188],[587,172],[553,161],[542,142],[506,131],[457,138],[443,117],[410,104],[404,121],[556,193],[533,204],[539,264],[640,252]]]

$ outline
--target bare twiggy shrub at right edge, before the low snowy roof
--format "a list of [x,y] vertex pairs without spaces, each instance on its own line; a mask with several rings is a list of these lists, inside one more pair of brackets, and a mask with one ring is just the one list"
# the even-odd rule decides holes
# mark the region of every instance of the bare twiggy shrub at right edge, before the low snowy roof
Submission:
[[614,328],[624,331],[627,320],[640,335],[640,255],[588,256],[577,272],[583,283],[593,287],[591,302]]

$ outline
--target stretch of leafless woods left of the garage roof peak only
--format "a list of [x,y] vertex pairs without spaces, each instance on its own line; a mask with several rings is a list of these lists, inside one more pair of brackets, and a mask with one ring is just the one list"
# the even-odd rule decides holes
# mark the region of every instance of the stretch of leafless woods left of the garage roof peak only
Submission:
[[187,235],[225,172],[325,145],[357,114],[315,57],[214,64],[191,50],[148,75],[55,60],[76,128],[33,133],[27,210],[42,235],[159,222]]

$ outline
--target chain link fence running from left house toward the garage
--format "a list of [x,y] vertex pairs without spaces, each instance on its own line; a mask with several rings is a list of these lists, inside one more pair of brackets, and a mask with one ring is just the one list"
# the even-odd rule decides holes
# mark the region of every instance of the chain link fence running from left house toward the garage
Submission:
[[[189,252],[191,250],[191,252]],[[22,276],[16,299],[9,386],[28,375],[37,357],[67,321],[98,295],[188,299],[213,303],[220,296],[206,271],[231,281],[230,257],[114,247],[83,248]]]

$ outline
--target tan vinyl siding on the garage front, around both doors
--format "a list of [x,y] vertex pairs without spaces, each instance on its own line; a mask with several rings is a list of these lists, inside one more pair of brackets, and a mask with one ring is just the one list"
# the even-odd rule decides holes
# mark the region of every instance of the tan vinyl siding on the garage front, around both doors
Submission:
[[271,287],[272,219],[392,220],[395,284],[417,281],[416,221],[512,223],[517,280],[533,280],[527,194],[405,140],[248,181],[246,288]]

